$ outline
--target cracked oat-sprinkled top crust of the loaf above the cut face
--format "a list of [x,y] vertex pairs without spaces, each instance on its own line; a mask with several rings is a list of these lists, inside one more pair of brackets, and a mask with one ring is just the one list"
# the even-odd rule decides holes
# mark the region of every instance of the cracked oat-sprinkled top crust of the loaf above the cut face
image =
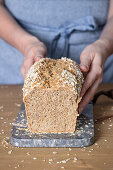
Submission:
[[28,71],[23,86],[23,98],[34,88],[67,87],[74,91],[76,99],[80,97],[84,78],[79,65],[70,58],[42,58]]

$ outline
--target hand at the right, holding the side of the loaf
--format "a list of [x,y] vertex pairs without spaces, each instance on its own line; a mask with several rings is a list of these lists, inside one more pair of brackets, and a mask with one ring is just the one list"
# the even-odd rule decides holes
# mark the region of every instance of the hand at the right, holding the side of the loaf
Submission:
[[79,103],[79,114],[93,98],[103,78],[103,67],[107,58],[105,42],[97,40],[88,45],[80,56],[80,69],[85,74],[84,84],[81,90],[82,100]]

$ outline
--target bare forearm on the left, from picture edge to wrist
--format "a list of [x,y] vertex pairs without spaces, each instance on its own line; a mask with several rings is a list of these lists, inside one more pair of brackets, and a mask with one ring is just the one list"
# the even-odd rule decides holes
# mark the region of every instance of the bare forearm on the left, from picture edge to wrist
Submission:
[[0,3],[0,38],[24,53],[25,46],[35,39],[26,32],[11,16],[2,3]]

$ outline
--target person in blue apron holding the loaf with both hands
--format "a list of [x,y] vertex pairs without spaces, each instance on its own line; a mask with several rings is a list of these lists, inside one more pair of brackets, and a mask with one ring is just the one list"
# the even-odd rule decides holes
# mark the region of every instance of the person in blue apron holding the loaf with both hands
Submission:
[[43,57],[69,57],[85,74],[81,113],[102,79],[113,82],[112,28],[112,0],[0,0],[0,83],[22,84]]

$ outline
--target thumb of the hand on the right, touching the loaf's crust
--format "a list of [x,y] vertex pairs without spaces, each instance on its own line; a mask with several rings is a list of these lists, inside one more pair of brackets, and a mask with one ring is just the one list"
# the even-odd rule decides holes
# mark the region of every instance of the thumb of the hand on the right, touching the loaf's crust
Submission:
[[88,72],[91,66],[91,63],[93,61],[92,56],[89,56],[89,54],[81,54],[80,56],[80,69],[83,72]]

